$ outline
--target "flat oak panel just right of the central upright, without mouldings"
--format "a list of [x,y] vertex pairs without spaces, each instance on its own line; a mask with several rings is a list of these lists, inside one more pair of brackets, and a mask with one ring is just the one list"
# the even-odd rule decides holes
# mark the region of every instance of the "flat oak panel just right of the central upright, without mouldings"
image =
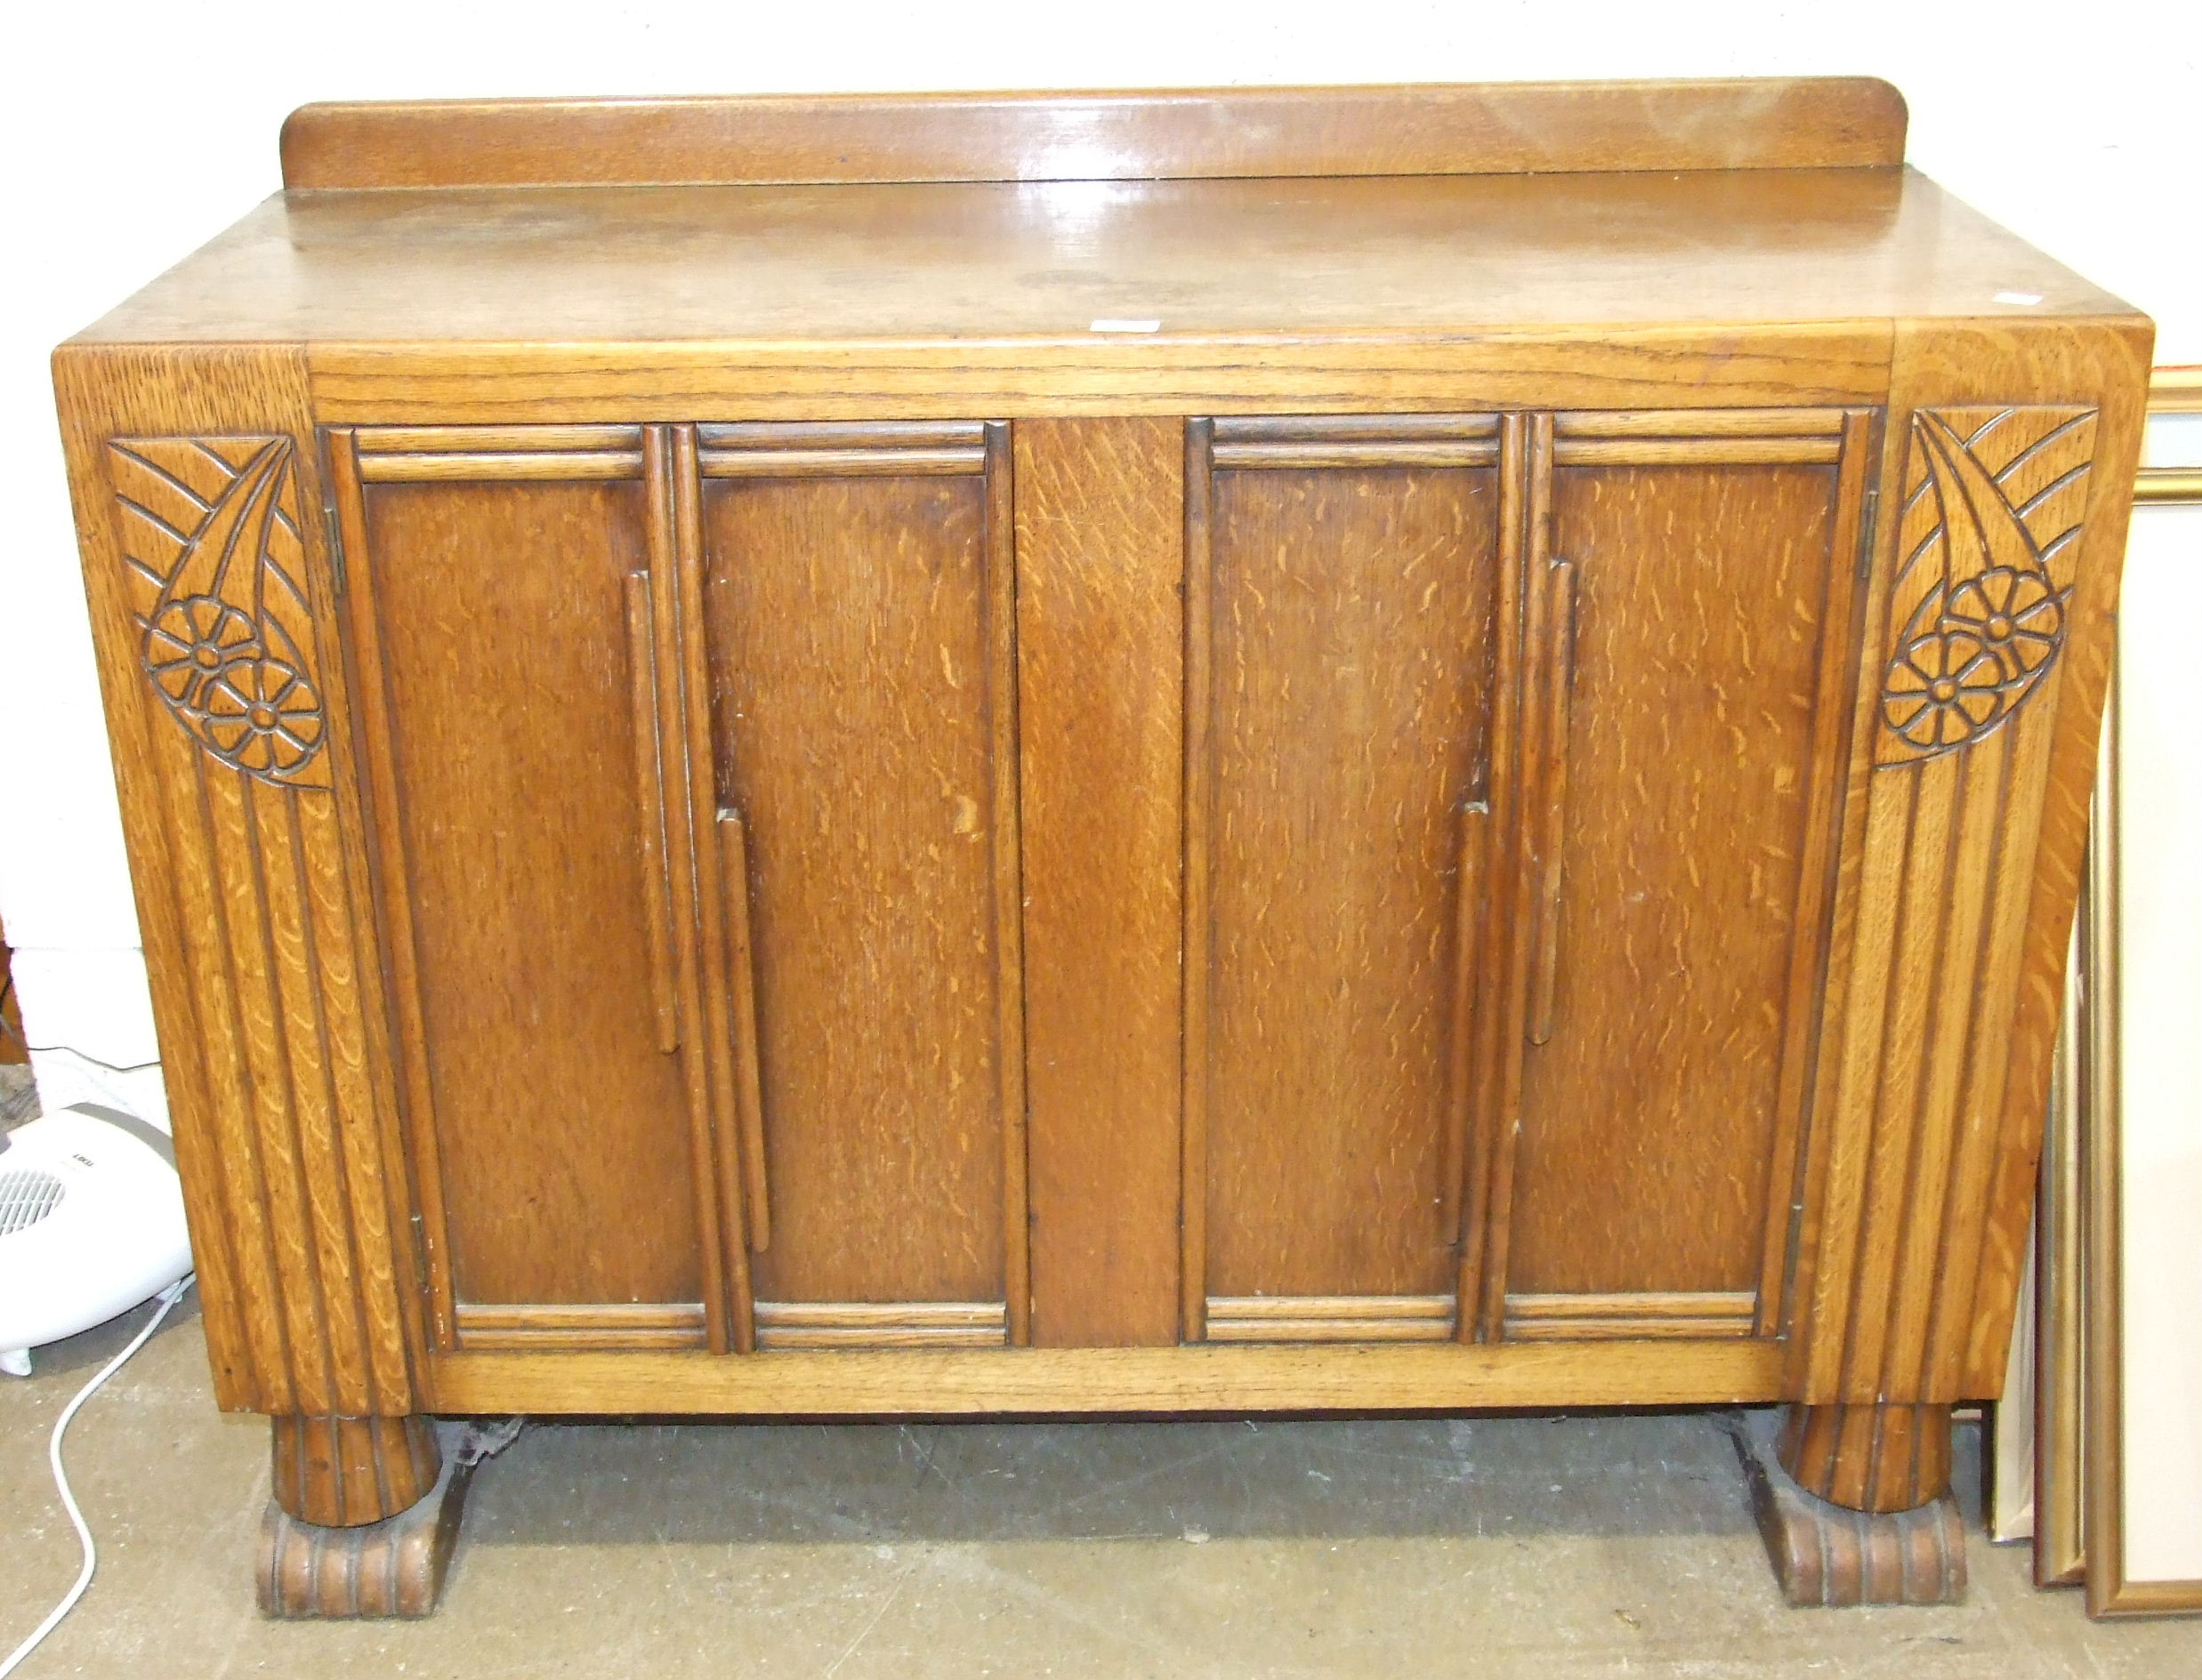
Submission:
[[1209,548],[1207,1292],[1445,1292],[1497,471],[1218,471]]

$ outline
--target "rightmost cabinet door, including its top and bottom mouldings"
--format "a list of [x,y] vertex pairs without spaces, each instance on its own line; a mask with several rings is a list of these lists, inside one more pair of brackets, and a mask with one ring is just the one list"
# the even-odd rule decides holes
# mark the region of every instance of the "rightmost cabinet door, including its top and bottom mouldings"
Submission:
[[1832,410],[1537,425],[1524,694],[1541,749],[1484,1334],[1770,1334],[1867,436]]

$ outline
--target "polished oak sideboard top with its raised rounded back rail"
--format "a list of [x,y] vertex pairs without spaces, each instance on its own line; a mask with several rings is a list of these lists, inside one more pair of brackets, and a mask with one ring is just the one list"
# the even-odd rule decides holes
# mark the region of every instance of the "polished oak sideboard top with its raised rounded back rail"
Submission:
[[2134,315],[1900,156],[1867,79],[308,106],[291,189],[77,341],[302,343],[341,407],[451,346],[1013,346],[1094,399],[1315,341],[1473,370],[1495,335],[1797,326],[1830,366],[1792,396],[1845,396],[1892,321]]

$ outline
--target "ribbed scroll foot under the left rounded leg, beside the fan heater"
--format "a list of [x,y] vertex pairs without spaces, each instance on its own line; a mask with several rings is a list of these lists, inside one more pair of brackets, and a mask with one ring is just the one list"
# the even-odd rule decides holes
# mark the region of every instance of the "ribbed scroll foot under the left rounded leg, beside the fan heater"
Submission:
[[473,1464],[449,1455],[421,1499],[355,1528],[299,1521],[269,1499],[260,1517],[260,1614],[286,1621],[434,1614],[471,1480]]

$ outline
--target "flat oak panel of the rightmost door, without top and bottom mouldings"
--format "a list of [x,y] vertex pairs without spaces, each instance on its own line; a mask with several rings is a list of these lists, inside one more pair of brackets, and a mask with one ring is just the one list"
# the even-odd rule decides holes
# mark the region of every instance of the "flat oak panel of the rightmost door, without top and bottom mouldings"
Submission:
[[1836,773],[1812,753],[1821,628],[1854,561],[1836,482],[1552,473],[1552,553],[1579,577],[1566,896],[1555,1030],[1522,1081],[1511,1292],[1759,1284],[1770,1152],[1792,1136],[1810,790]]

